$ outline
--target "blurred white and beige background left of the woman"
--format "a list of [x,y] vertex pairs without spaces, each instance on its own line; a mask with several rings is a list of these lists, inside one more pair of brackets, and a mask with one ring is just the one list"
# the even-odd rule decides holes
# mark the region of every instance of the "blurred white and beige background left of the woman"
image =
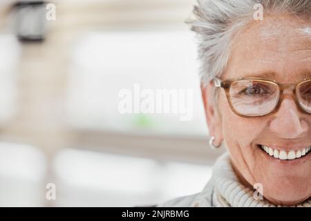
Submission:
[[[0,206],[144,206],[204,188],[222,151],[207,142],[194,3],[0,1]],[[134,84],[191,90],[191,120],[120,113]]]

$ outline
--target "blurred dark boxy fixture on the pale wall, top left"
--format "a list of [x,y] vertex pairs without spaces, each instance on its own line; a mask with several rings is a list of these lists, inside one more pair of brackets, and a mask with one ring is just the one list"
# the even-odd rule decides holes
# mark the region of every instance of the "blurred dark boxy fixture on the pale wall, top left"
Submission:
[[46,1],[17,1],[13,6],[15,34],[19,41],[44,41]]

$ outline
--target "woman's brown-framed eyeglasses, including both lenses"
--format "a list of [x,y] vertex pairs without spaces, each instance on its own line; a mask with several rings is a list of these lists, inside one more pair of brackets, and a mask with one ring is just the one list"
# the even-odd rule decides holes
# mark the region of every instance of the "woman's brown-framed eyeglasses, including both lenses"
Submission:
[[311,77],[296,84],[280,84],[258,77],[221,81],[214,85],[225,90],[232,111],[241,117],[260,117],[277,111],[285,91],[292,91],[294,101],[303,113],[311,114]]

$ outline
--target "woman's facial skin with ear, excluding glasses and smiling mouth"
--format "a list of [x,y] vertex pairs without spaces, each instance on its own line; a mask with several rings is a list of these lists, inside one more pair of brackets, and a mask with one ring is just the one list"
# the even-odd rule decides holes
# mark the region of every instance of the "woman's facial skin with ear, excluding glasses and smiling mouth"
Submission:
[[[268,74],[267,74],[268,73]],[[241,32],[221,79],[265,77],[292,84],[311,77],[311,22],[295,17],[265,17]],[[311,146],[311,115],[302,113],[293,95],[283,97],[279,110],[246,118],[232,112],[220,89],[218,111],[212,105],[211,85],[202,90],[205,112],[215,143],[223,140],[242,182],[261,183],[263,195],[275,204],[291,205],[311,196],[311,153],[296,160],[279,160],[258,145],[279,151]]]

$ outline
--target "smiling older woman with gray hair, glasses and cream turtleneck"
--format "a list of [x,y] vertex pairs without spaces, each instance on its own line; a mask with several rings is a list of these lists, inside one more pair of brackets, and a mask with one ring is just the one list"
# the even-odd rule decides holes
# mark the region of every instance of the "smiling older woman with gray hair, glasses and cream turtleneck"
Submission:
[[209,144],[228,153],[202,192],[161,206],[311,206],[310,12],[310,0],[198,0]]

